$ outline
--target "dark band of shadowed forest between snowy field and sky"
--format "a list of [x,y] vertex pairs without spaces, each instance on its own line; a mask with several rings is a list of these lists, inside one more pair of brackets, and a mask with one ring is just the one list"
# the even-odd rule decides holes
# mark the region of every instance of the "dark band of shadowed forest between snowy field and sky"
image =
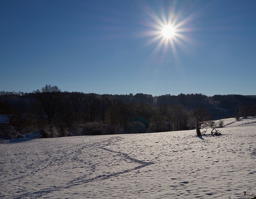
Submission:
[[256,96],[84,94],[46,85],[32,93],[0,92],[0,138],[179,131],[204,121],[256,115]]

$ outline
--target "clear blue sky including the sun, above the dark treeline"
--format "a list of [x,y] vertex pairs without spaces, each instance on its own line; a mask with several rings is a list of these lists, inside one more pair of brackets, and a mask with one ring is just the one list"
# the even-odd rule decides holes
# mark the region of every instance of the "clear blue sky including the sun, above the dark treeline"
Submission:
[[0,91],[255,95],[255,10],[255,0],[0,0]]

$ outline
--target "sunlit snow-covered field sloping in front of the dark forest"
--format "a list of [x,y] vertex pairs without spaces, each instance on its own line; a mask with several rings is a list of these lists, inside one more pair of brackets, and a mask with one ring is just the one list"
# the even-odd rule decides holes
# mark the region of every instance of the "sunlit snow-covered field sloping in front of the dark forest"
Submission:
[[240,198],[256,188],[253,121],[202,138],[191,130],[6,141],[0,198]]

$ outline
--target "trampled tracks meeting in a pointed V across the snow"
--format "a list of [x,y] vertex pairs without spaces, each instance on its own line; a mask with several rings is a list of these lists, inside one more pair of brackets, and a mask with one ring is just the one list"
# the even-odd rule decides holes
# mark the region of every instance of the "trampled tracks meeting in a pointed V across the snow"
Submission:
[[[135,159],[133,157],[130,157],[130,155],[128,155],[127,153],[123,153],[121,151],[114,151],[112,149],[106,148],[106,147],[112,145],[113,143],[115,143],[117,141],[120,141],[121,139],[122,139],[121,137],[111,137],[108,140],[102,140],[102,141],[94,142],[94,143],[89,144],[89,145],[82,145],[79,149],[77,149],[76,151],[74,151],[72,153],[66,153],[66,154],[64,154],[60,157],[55,157],[55,158],[52,158],[52,159],[51,158],[48,159],[48,162],[41,169],[35,169],[30,174],[23,175],[23,176],[20,176],[18,178],[12,179],[12,180],[16,180],[16,179],[21,179],[22,180],[22,178],[27,177],[29,175],[34,175],[38,171],[42,171],[44,169],[47,169],[48,167],[51,167],[52,165],[54,165],[55,163],[58,163],[59,161],[62,161],[62,162],[65,161],[66,158],[70,155],[72,155],[72,157],[70,157],[70,159],[72,161],[79,161],[79,162],[82,162],[84,164],[88,164],[90,166],[90,170],[91,170],[89,173],[86,173],[86,175],[81,175],[79,177],[76,177],[75,179],[72,179],[72,180],[66,182],[66,184],[61,185],[61,186],[50,186],[50,187],[47,187],[47,188],[44,188],[44,189],[41,189],[41,190],[38,190],[38,191],[32,191],[32,192],[29,192],[29,193],[28,192],[27,193],[21,192],[22,194],[18,195],[18,197],[15,197],[15,199],[21,199],[21,198],[24,198],[24,197],[39,198],[39,197],[45,196],[49,193],[52,193],[54,191],[59,191],[59,190],[62,190],[62,189],[72,188],[74,186],[83,185],[83,184],[94,182],[94,181],[103,181],[105,179],[109,179],[110,177],[117,177],[118,175],[122,175],[124,173],[128,173],[128,172],[131,172],[131,171],[134,171],[134,170],[137,170],[137,169],[141,169],[142,167],[146,167],[146,166],[151,165],[151,164],[154,163],[154,162],[141,161],[139,159]],[[107,144],[106,144],[106,142],[107,142]],[[90,162],[88,163],[87,162],[87,161],[90,161],[90,160],[85,160],[85,159],[82,159],[82,158],[78,157],[80,154],[85,153],[83,150],[88,148],[88,147],[93,147],[94,149],[98,148],[98,149],[102,149],[104,151],[108,151],[109,153],[116,154],[118,157],[120,157],[121,161],[129,160],[131,163],[138,163],[139,165],[135,166],[135,167],[132,167],[132,168],[129,168],[129,169],[124,169],[124,170],[117,171],[117,172],[113,172],[113,171],[112,172],[107,172],[106,174],[96,175],[96,176],[93,177],[92,175],[95,175],[94,173],[96,171],[96,166],[93,163],[90,163]],[[111,161],[111,159],[110,159],[110,161]],[[70,168],[70,170],[71,170],[71,168]],[[72,175],[72,173],[71,173],[71,175]]]

